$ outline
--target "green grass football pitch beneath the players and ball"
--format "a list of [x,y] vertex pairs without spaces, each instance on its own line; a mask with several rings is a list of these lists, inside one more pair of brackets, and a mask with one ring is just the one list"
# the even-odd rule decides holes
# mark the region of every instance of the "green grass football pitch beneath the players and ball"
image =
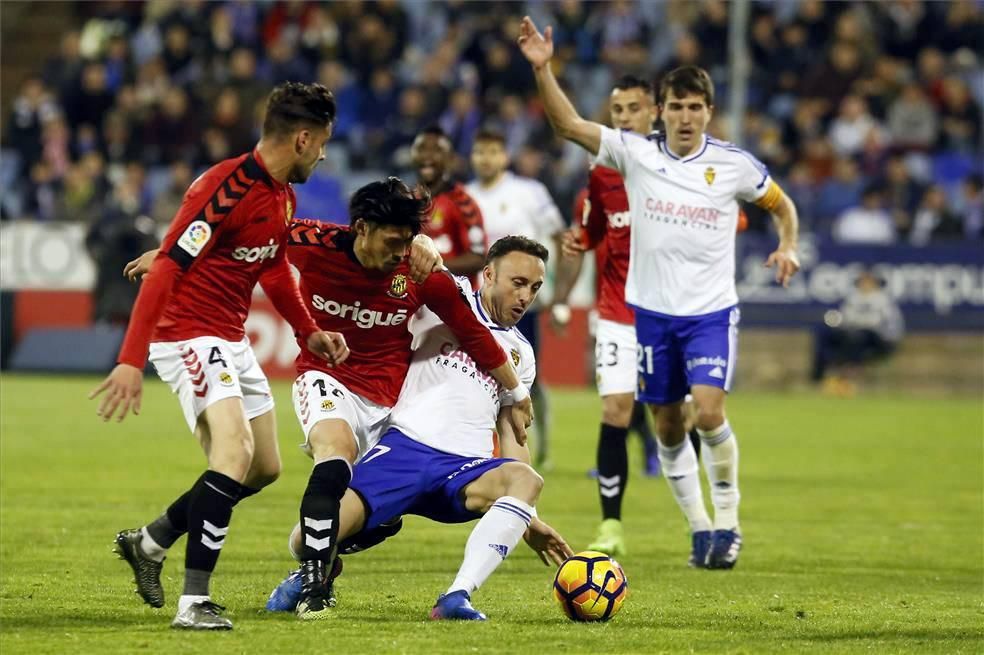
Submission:
[[[663,480],[638,471],[621,561],[630,595],[607,624],[568,622],[553,569],[520,545],[475,597],[486,624],[428,620],[470,526],[407,521],[346,558],[337,616],[314,625],[262,611],[290,568],[285,544],[310,469],[287,385],[277,385],[284,475],[237,509],[213,583],[235,630],[168,624],[183,547],[165,565],[168,603],[133,594],[110,553],[121,528],[153,518],[204,459],[177,403],[149,382],[141,416],[104,425],[95,379],[0,379],[0,652],[657,653],[984,651],[980,399],[737,393],[745,550],[731,572],[686,567],[689,539]],[[540,514],[575,550],[598,523],[599,403],[553,392],[556,468]],[[179,546],[183,546],[183,541]]]

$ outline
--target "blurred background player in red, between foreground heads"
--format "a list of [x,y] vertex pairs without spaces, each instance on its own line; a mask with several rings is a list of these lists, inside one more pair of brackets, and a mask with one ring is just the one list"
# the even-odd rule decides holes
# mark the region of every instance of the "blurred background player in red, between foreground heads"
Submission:
[[410,152],[418,182],[434,203],[424,233],[434,240],[449,271],[476,284],[488,247],[485,226],[481,210],[464,185],[451,180],[451,140],[440,127],[428,127],[417,135]]

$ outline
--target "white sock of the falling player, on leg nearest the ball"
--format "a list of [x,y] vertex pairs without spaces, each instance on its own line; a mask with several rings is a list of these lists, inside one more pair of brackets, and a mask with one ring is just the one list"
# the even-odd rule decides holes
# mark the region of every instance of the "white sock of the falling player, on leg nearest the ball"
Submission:
[[465,544],[465,559],[447,593],[465,591],[470,596],[519,543],[536,510],[513,496],[495,501],[479,520]]

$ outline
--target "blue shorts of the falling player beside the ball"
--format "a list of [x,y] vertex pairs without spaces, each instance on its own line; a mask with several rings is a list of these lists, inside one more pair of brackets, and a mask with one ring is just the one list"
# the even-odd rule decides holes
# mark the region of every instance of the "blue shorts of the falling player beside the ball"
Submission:
[[465,508],[464,488],[512,461],[452,455],[390,428],[352,469],[349,487],[366,505],[363,530],[404,514],[439,523],[467,523],[482,515]]

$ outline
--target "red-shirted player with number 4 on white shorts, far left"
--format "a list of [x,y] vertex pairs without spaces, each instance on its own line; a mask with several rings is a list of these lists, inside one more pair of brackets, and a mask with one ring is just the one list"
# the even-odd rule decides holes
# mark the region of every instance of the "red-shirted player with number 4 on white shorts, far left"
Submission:
[[137,590],[164,605],[160,572],[167,549],[188,532],[184,591],[172,627],[228,630],[209,597],[209,578],[236,503],[280,474],[273,399],[245,336],[257,282],[312,356],[341,364],[340,334],[315,324],[286,259],[296,203],[291,183],[308,179],[324,159],[335,101],[318,84],[286,83],[267,104],[262,135],[247,154],[216,164],[185,194],[131,314],[118,365],[90,398],[98,413],[123,420],[140,409],[150,359],[178,395],[208,468],[158,519],[116,537]]

